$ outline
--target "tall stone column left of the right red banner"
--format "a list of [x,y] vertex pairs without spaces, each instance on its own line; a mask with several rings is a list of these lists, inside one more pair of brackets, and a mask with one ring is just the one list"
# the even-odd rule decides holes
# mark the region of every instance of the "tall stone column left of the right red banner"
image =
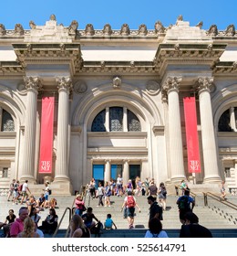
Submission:
[[169,77],[163,86],[168,94],[169,134],[170,134],[170,168],[171,181],[180,182],[184,177],[182,133],[180,123],[179,88],[181,78]]

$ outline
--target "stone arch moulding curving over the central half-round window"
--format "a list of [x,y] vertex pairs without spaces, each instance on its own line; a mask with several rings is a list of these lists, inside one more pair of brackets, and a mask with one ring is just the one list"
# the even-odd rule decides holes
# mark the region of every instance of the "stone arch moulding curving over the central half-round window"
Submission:
[[145,131],[146,123],[151,125],[163,125],[160,111],[154,102],[145,93],[134,90],[130,85],[123,84],[123,90],[114,90],[110,84],[102,85],[98,89],[88,93],[80,101],[73,114],[72,125],[78,126],[86,123],[88,129],[98,114],[105,107],[124,106],[134,112],[141,123],[141,130]]

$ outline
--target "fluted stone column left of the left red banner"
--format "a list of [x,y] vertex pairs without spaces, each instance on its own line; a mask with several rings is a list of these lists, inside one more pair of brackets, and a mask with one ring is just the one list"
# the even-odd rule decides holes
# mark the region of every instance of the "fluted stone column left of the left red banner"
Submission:
[[27,99],[26,99],[26,123],[25,123],[25,147],[23,155],[23,169],[20,176],[21,181],[36,182],[35,170],[35,148],[36,148],[36,112],[37,94],[41,89],[38,77],[25,77]]

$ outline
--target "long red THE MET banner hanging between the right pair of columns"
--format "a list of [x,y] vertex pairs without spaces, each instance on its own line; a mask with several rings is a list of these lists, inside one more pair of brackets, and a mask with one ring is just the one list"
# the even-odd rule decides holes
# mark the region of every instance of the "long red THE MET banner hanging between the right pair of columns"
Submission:
[[195,98],[184,98],[183,105],[186,127],[189,173],[201,173]]

